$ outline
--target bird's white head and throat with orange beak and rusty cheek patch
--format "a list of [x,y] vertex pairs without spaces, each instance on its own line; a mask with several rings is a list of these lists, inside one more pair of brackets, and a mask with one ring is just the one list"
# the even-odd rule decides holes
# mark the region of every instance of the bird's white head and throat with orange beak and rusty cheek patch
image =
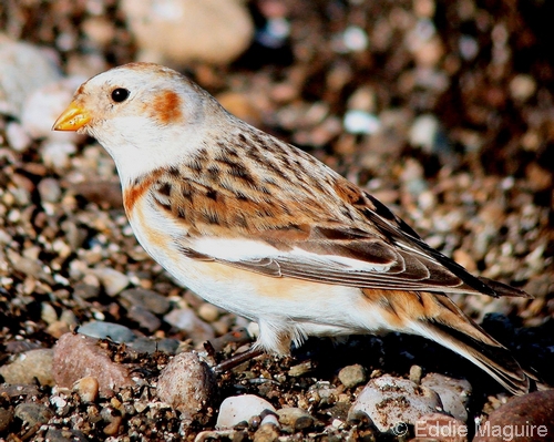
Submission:
[[227,117],[212,95],[178,72],[130,63],[83,83],[53,130],[95,137],[125,184],[175,164],[201,147],[206,131]]

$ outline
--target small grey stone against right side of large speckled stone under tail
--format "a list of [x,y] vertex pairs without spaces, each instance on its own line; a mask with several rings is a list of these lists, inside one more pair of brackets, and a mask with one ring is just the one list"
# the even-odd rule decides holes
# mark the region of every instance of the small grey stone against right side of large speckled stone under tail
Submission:
[[455,419],[466,422],[466,407],[471,399],[471,383],[465,379],[453,379],[444,374],[429,373],[421,384],[430,388],[441,398],[442,409]]

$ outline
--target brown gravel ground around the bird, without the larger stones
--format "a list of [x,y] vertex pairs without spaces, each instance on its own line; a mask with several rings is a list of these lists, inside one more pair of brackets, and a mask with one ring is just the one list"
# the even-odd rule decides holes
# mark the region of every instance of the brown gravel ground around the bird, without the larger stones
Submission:
[[[456,301],[553,383],[553,6],[259,0],[248,7],[257,38],[240,58],[181,70],[233,113],[367,188],[472,273],[532,294]],[[268,43],[267,23],[288,25],[289,33]],[[89,76],[135,60],[140,50],[115,0],[8,0],[0,29],[48,48],[68,74]],[[506,401],[499,386],[440,346],[398,335],[351,337],[309,340],[293,358],[260,357],[219,374],[204,418],[184,420],[156,399],[170,354],[204,350],[209,339],[215,354],[208,353],[220,361],[248,342],[244,328],[252,325],[178,287],[150,259],[127,225],[114,165],[93,140],[68,147],[25,134],[19,115],[1,111],[0,368],[104,321],[132,331],[117,340],[110,329],[113,341],[102,346],[138,383],[85,401],[79,388],[33,371],[32,382],[11,382],[25,384],[19,390],[0,387],[0,440],[194,440],[214,429],[220,402],[240,393],[277,410],[301,408],[312,421],[264,434],[254,419],[233,440],[399,440],[348,422],[362,386],[346,387],[338,373],[352,364],[369,378],[408,378],[412,366],[465,378],[473,386],[470,419]]]

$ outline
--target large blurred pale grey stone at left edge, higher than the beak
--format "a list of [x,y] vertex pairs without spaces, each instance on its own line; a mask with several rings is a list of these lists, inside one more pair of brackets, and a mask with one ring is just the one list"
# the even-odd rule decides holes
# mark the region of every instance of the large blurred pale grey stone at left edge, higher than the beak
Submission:
[[60,78],[44,50],[0,34],[0,113],[20,119],[27,97]]

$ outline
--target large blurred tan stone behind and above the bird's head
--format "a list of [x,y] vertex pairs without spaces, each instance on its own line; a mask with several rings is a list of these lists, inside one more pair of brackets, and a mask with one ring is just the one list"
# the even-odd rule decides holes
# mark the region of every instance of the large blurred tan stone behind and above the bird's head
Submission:
[[254,24],[237,0],[123,0],[143,61],[225,64],[250,43]]

